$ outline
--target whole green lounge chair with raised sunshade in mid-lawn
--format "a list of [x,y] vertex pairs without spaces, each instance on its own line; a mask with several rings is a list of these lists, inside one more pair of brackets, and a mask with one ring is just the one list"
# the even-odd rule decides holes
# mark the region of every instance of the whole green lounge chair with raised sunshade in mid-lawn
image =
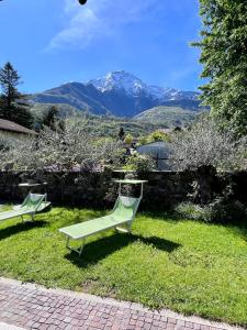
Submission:
[[[98,232],[114,228],[121,232],[131,232],[131,226],[137,212],[139,202],[143,198],[143,185],[145,180],[115,180],[120,184],[119,197],[116,199],[115,206],[109,216],[92,219],[81,223],[72,224],[59,229],[61,233],[67,237],[66,248],[76,251],[81,255],[85,246],[86,239]],[[122,184],[134,184],[142,185],[141,196],[138,198],[126,197],[121,195]],[[125,228],[124,228],[125,227]],[[69,245],[69,240],[82,240],[82,244],[79,249],[74,249]]]

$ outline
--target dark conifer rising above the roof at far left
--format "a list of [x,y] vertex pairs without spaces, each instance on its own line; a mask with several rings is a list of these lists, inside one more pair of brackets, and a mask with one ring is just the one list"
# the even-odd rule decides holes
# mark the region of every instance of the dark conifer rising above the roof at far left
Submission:
[[0,69],[0,86],[2,89],[0,117],[26,128],[32,128],[33,117],[25,100],[26,96],[22,95],[16,88],[21,84],[20,79],[21,77],[11,63],[8,62]]

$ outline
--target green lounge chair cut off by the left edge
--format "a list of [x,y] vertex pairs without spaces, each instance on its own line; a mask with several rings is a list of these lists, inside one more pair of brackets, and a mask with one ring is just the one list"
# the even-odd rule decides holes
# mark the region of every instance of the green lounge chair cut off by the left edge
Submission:
[[19,209],[12,209],[10,211],[0,212],[0,221],[4,221],[16,217],[21,217],[22,221],[24,221],[24,216],[30,216],[33,221],[35,213],[37,212],[43,201],[46,201],[46,194],[29,194]]

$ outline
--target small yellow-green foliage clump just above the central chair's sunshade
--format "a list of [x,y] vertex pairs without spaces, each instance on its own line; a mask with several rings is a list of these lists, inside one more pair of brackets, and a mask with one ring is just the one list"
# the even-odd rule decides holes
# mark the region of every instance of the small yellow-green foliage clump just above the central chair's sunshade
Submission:
[[155,162],[148,155],[135,153],[127,158],[124,169],[136,170],[139,174],[144,174],[155,169]]

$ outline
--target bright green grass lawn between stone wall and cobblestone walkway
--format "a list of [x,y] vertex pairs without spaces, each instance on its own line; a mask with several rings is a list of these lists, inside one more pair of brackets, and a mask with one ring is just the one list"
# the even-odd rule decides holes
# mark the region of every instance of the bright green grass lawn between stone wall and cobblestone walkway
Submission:
[[58,228],[103,212],[54,208],[0,223],[0,275],[247,326],[247,231],[141,213],[133,235],[88,240],[81,258]]

